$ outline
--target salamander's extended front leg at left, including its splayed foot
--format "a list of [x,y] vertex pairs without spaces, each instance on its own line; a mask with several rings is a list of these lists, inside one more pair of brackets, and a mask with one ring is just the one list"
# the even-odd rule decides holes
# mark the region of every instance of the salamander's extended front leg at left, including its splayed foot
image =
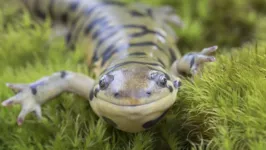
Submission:
[[18,125],[21,125],[25,116],[33,111],[40,119],[42,116],[41,105],[62,92],[72,92],[89,99],[93,85],[94,80],[88,76],[61,71],[31,84],[7,83],[7,86],[17,94],[3,101],[2,105],[21,105],[22,109],[17,119]]

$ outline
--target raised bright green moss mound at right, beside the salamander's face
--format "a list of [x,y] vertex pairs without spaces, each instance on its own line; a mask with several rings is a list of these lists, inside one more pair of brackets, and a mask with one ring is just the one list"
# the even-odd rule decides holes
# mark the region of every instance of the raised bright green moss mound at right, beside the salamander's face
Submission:
[[219,55],[201,79],[194,84],[185,82],[175,103],[180,115],[171,122],[171,133],[176,131],[176,135],[184,135],[183,139],[201,148],[265,146],[266,134],[261,130],[266,119],[264,47],[248,45]]

